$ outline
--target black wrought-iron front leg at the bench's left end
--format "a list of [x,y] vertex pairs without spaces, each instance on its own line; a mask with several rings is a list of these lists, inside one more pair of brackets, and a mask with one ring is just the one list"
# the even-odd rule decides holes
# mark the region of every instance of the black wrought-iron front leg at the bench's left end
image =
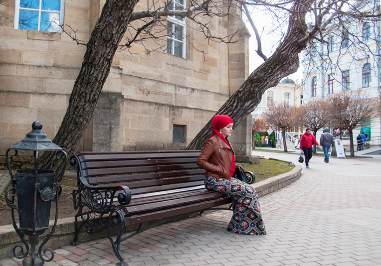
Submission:
[[[116,240],[114,241],[112,238],[113,229],[116,232]],[[120,251],[120,242],[124,229],[124,215],[120,210],[113,210],[109,216],[109,236],[108,239],[111,242],[112,249],[114,251],[115,256],[118,258],[119,263],[117,266],[127,266],[127,263],[124,262],[122,253]]]

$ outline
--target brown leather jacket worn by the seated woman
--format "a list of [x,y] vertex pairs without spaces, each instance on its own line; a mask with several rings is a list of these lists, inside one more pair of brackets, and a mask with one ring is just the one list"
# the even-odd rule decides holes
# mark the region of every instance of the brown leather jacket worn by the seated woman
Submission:
[[197,158],[197,165],[206,170],[205,176],[229,179],[232,154],[234,154],[233,148],[219,136],[213,135],[206,140]]

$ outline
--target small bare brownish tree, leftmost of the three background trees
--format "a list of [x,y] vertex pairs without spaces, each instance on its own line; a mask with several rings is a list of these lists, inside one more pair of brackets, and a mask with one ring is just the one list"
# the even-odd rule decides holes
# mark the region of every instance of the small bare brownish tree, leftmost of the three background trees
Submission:
[[287,104],[271,105],[263,114],[265,122],[273,130],[282,130],[283,149],[287,152],[286,132],[294,126],[296,107]]

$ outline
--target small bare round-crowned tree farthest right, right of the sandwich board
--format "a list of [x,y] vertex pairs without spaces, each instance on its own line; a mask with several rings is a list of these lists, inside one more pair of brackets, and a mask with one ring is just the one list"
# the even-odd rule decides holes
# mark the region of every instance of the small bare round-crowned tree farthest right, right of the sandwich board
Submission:
[[375,116],[377,100],[368,98],[361,90],[342,92],[327,99],[332,125],[349,131],[352,157],[355,156],[353,130],[361,125],[365,118]]

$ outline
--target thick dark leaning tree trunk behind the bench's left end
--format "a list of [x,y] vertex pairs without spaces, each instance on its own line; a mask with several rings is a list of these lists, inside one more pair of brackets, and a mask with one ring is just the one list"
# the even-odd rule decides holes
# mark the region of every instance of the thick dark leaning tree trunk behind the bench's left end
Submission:
[[[138,0],[107,0],[87,43],[87,50],[74,83],[69,106],[61,126],[52,140],[70,156],[93,116],[95,105],[110,72],[111,63],[126,32],[132,11]],[[40,159],[41,168],[60,169],[52,152]]]

